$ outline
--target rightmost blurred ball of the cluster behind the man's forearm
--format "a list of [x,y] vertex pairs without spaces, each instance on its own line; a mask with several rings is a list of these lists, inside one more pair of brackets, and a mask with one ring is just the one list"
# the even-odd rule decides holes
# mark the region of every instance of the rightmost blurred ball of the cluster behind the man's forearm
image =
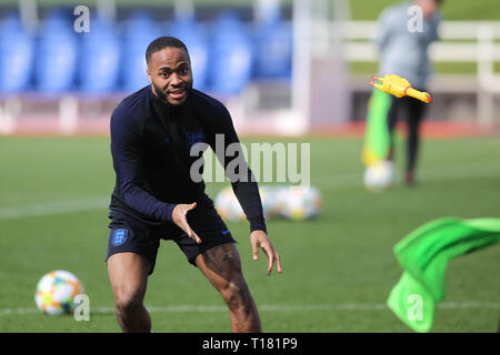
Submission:
[[278,192],[279,213],[292,221],[303,221],[321,213],[322,199],[313,186],[281,187]]

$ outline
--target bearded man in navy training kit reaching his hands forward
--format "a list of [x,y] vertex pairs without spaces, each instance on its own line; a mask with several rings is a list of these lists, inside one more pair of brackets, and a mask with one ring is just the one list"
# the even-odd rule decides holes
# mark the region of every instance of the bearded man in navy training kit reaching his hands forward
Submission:
[[[190,58],[180,40],[156,39],[146,59],[151,84],[126,98],[111,116],[117,182],[109,206],[107,263],[118,323],[123,332],[151,331],[143,297],[162,239],[174,241],[219,291],[232,332],[261,332],[236,241],[204,193],[203,181],[190,175],[197,159],[190,155],[193,144],[207,143],[216,151],[216,134],[223,134],[226,146],[239,144],[231,116],[221,102],[192,89]],[[224,169],[229,162],[223,159]],[[281,273],[258,185],[246,162],[244,169],[249,179],[231,183],[250,222],[253,258],[262,248],[268,275],[274,263]]]

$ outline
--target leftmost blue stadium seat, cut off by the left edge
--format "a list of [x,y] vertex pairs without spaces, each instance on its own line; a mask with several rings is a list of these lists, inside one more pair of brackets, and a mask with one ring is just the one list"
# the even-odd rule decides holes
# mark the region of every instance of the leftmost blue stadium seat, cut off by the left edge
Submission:
[[0,23],[0,92],[10,93],[30,87],[33,38],[22,28],[16,13]]

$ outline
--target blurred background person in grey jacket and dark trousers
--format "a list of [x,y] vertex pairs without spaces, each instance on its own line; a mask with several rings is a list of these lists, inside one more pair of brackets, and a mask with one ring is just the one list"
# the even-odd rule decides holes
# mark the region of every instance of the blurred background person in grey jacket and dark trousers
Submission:
[[[377,45],[379,49],[379,75],[398,74],[413,88],[427,91],[432,65],[428,55],[429,44],[438,39],[440,0],[413,0],[389,7],[379,18]],[[391,136],[388,160],[393,159],[392,132],[401,109],[408,124],[407,165],[404,181],[414,185],[414,169],[419,148],[419,126],[424,114],[424,103],[412,98],[391,98],[388,126]]]

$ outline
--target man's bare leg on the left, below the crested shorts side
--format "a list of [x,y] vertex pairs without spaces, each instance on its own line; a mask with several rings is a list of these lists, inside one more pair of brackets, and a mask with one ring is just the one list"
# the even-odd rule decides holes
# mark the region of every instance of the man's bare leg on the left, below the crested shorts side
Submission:
[[151,332],[151,318],[142,304],[150,270],[150,263],[134,253],[119,253],[108,260],[117,320],[126,333]]

